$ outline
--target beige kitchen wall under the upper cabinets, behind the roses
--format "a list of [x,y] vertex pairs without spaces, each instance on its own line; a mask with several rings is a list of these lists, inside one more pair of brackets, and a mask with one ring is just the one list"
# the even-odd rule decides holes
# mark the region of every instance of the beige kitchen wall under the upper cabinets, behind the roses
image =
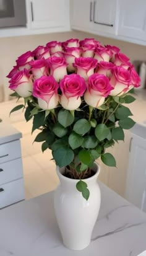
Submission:
[[64,41],[69,38],[83,39],[85,37],[94,37],[103,44],[118,46],[123,53],[131,58],[132,62],[135,60],[146,61],[146,46],[122,42],[111,38],[98,37],[97,35],[78,31],[0,38],[0,102],[2,101],[2,88],[4,89],[4,99],[9,99],[8,79],[6,75],[12,69],[12,66],[14,66],[18,56],[25,51],[35,49],[38,45],[45,45],[51,40]]

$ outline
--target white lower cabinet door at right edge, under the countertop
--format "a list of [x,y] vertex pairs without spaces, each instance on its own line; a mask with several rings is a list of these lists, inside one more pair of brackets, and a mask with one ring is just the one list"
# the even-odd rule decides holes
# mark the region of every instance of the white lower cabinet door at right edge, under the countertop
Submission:
[[132,134],[126,199],[146,211],[146,139]]

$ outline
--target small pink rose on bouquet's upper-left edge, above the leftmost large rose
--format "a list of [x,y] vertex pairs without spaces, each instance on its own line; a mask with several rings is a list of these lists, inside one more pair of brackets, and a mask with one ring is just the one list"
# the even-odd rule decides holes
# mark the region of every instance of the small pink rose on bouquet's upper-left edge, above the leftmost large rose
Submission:
[[26,53],[22,54],[21,56],[19,56],[19,58],[17,59],[16,63],[17,66],[19,67],[19,70],[22,69],[30,69],[30,64],[29,62],[33,60],[33,54],[31,51],[27,51]]

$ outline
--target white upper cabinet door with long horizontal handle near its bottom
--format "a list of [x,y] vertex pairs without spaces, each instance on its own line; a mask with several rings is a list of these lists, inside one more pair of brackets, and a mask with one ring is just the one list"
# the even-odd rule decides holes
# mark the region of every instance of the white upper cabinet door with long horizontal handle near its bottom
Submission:
[[116,0],[93,2],[93,30],[115,33],[116,3]]

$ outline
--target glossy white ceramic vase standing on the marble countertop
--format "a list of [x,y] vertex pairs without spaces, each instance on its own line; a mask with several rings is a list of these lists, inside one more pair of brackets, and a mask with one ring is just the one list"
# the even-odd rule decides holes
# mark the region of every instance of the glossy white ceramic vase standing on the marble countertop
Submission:
[[64,177],[64,168],[56,167],[60,183],[54,192],[54,210],[64,245],[82,250],[90,244],[93,227],[100,210],[100,187],[97,177],[100,167],[94,164],[95,175],[84,181],[90,190],[88,200],[76,188],[79,180]]

